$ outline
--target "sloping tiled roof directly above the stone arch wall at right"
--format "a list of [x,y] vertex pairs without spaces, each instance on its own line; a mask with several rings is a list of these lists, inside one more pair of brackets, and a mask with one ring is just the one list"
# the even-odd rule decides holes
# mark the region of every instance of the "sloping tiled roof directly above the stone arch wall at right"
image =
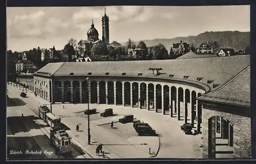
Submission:
[[219,89],[206,93],[198,99],[250,106],[250,66]]

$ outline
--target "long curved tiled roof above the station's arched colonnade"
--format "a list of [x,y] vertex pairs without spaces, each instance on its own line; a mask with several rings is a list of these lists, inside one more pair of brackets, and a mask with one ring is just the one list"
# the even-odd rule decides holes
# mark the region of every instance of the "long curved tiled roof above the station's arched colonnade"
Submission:
[[[108,76],[122,76],[122,73],[126,73],[125,76],[185,81],[212,90],[230,80],[248,65],[249,55],[177,60],[60,62],[48,63],[34,75],[42,75],[38,72],[47,72],[51,76],[69,76],[70,73],[73,73],[73,76],[87,76],[88,73],[92,73],[91,76],[105,76],[106,72],[109,73]],[[162,74],[155,76],[150,67],[162,68]],[[142,75],[138,76],[140,73]],[[184,76],[188,78],[184,79]],[[198,81],[199,77],[202,80]],[[214,88],[214,84],[218,87]]]

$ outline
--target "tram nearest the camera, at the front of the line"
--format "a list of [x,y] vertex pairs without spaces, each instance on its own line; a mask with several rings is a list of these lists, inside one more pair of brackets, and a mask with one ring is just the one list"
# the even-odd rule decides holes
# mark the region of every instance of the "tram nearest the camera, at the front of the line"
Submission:
[[68,154],[73,151],[72,145],[71,145],[71,137],[63,129],[59,129],[59,128],[51,129],[50,140],[51,140],[51,144],[61,154],[63,153]]

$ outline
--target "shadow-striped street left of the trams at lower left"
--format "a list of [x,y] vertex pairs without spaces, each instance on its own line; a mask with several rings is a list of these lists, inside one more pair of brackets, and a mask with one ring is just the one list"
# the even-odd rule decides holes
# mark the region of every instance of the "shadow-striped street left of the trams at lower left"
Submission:
[[[8,92],[7,104],[7,158],[41,159],[41,158],[75,158],[84,154],[72,145],[69,156],[57,155],[50,145],[46,129],[50,127],[40,120],[30,106],[20,100],[15,93]],[[23,116],[22,116],[23,114]],[[49,134],[48,134],[49,135]]]

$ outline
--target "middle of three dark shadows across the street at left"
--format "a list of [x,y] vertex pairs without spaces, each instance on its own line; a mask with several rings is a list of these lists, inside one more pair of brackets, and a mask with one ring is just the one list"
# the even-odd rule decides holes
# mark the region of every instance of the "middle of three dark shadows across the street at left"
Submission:
[[[22,113],[20,113],[22,115]],[[28,115],[28,116],[11,116],[7,118],[7,125],[10,128],[10,131],[8,131],[8,135],[12,135],[18,132],[28,132],[31,129],[40,129],[47,127],[47,125],[38,125],[35,123],[35,120],[41,120],[38,117],[34,115]],[[26,122],[27,127],[24,126],[23,122]]]

